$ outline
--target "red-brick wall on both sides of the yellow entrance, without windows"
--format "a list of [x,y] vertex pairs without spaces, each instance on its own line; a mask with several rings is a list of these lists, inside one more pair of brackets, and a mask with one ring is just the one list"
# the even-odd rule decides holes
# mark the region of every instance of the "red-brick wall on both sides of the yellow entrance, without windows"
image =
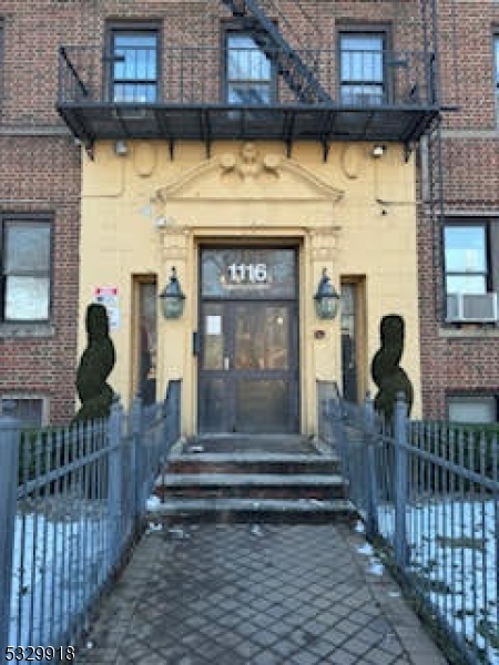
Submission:
[[[269,8],[268,14],[296,47],[330,48],[334,53],[336,31],[354,22],[388,25],[396,50],[421,51],[424,40],[432,39],[431,3],[422,0],[276,0],[275,4],[281,16]],[[53,421],[68,419],[73,411],[80,206],[79,150],[54,110],[58,47],[100,50],[106,21],[125,19],[161,21],[164,44],[217,47],[221,20],[228,18],[217,0],[3,0],[0,6],[4,32],[0,211],[48,211],[55,232],[54,336],[0,337],[0,393],[29,389],[49,395]],[[499,25],[499,6],[492,0],[439,2],[442,101],[459,106],[446,114],[444,125],[445,197],[452,211],[499,209],[493,25]],[[418,234],[424,410],[437,417],[444,415],[446,390],[499,392],[499,344],[480,337],[480,330],[468,339],[441,337],[440,231],[422,205]]]

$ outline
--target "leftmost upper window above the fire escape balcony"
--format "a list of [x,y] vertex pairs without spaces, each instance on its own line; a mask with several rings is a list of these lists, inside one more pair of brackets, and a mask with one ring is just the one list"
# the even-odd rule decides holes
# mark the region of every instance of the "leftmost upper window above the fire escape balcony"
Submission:
[[112,28],[110,31],[111,100],[157,100],[157,30]]

